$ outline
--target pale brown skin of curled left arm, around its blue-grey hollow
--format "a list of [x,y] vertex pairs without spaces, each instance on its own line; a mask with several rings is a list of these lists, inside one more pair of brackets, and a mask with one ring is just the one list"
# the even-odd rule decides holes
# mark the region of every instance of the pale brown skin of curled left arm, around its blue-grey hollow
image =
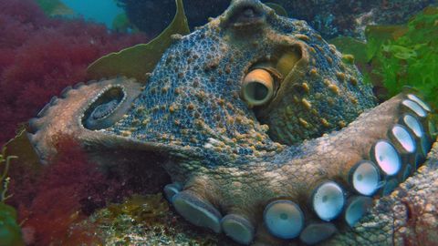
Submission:
[[[112,95],[112,94],[115,95]],[[90,117],[88,111],[97,108],[97,103],[105,103],[109,98],[123,94],[118,108],[112,108],[105,120],[107,123],[117,121],[130,108],[132,100],[141,93],[141,84],[133,79],[117,77],[109,80],[91,81],[88,85],[79,83],[75,87],[67,87],[61,97],[52,97],[36,118],[29,120],[28,138],[34,143],[42,161],[47,162],[57,150],[57,134],[69,135],[83,143],[90,136],[95,136],[89,128],[84,127],[84,118]],[[107,95],[106,95],[107,94]],[[94,104],[94,105],[93,105]],[[107,112],[108,113],[108,112]],[[91,114],[92,115],[92,114]],[[97,124],[99,128],[99,124]],[[104,126],[102,126],[104,127]],[[96,126],[95,126],[96,128]]]

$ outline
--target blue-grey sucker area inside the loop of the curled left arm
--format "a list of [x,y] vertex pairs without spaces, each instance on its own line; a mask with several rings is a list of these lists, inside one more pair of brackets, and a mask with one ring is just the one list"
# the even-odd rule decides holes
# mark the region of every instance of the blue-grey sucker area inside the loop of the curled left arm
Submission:
[[126,99],[125,92],[121,87],[110,87],[91,104],[85,111],[82,124],[85,128],[101,129],[109,128],[120,119],[120,105]]

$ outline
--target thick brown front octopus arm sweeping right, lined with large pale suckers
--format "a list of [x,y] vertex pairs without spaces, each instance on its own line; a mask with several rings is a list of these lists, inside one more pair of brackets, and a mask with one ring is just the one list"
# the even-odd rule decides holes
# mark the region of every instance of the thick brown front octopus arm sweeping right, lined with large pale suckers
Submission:
[[341,224],[354,226],[373,195],[391,193],[421,166],[430,150],[422,141],[430,143],[433,136],[427,105],[412,96],[393,97],[347,128],[273,159],[198,171],[173,205],[193,224],[243,244],[255,238],[324,241]]

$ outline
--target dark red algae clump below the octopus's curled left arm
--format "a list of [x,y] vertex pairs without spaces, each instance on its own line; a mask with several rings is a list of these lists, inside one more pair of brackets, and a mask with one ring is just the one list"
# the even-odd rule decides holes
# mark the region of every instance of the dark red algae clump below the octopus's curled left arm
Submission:
[[[20,220],[24,221],[26,241],[35,245],[74,245],[78,238],[81,243],[99,241],[89,229],[74,230],[70,226],[106,205],[107,200],[117,200],[124,191],[88,161],[77,143],[68,137],[58,141],[57,159],[43,170],[33,188],[27,188],[33,190],[30,203],[12,201],[18,204]],[[19,195],[20,190],[13,187],[11,192]]]

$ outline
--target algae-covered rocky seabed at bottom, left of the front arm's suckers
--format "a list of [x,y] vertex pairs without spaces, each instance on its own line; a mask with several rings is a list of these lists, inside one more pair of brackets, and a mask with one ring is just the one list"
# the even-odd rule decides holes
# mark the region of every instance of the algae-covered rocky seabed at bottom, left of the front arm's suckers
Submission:
[[75,227],[92,228],[104,245],[237,245],[183,220],[162,193],[133,195],[96,211]]

